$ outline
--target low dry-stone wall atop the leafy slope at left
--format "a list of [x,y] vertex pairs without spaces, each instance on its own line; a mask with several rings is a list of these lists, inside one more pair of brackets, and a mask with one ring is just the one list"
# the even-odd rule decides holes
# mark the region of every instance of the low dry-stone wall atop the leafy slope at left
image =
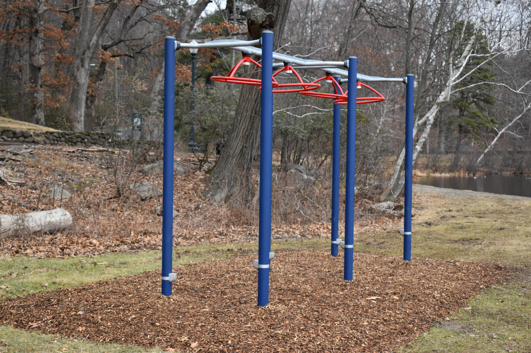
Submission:
[[122,140],[108,133],[73,133],[70,131],[47,131],[0,129],[0,141],[20,141],[40,145],[118,147]]

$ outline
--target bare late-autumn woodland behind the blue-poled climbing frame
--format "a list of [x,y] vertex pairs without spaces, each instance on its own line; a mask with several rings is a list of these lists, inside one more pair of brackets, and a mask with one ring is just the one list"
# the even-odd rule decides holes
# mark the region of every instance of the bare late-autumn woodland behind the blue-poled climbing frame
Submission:
[[[120,130],[130,138],[137,113],[143,139],[157,140],[165,36],[251,39],[272,29],[275,50],[284,54],[355,55],[363,74],[415,74],[418,169],[531,171],[528,1],[2,0],[0,19],[0,116],[61,130]],[[186,149],[193,120],[198,158],[216,157],[207,169],[209,195],[222,200],[237,193],[255,201],[258,89],[210,80],[239,59],[229,50],[199,50],[191,110],[191,54],[177,53],[176,148]],[[305,81],[323,76],[301,74]],[[356,182],[395,199],[404,182],[405,89],[373,87],[386,101],[358,107]],[[329,169],[332,103],[293,93],[276,94],[274,104],[276,165]],[[344,129],[345,123],[342,154]]]

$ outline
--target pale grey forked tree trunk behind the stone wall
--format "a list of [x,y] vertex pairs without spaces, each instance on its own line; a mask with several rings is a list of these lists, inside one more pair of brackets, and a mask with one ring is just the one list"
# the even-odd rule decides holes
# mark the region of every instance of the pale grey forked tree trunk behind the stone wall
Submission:
[[74,72],[72,75],[72,92],[70,94],[70,107],[68,120],[74,131],[83,131],[85,127],[85,102],[87,100],[87,87],[89,84],[90,59],[110,17],[122,0],[111,0],[103,16],[91,31],[91,22],[98,17],[93,14],[95,0],[83,1],[78,27],[77,40],[74,51]]

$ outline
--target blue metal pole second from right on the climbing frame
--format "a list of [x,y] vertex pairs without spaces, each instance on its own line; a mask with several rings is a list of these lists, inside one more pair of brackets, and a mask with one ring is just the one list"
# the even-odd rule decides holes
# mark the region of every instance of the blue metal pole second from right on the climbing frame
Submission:
[[347,170],[345,185],[345,266],[344,279],[352,280],[354,262],[354,174],[356,172],[356,77],[358,59],[348,58]]

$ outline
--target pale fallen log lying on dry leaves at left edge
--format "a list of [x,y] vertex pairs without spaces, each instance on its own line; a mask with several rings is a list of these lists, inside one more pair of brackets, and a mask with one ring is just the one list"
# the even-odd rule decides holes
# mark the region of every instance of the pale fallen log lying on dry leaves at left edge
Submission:
[[0,239],[39,232],[54,233],[70,225],[72,225],[72,216],[63,208],[18,215],[0,215]]

